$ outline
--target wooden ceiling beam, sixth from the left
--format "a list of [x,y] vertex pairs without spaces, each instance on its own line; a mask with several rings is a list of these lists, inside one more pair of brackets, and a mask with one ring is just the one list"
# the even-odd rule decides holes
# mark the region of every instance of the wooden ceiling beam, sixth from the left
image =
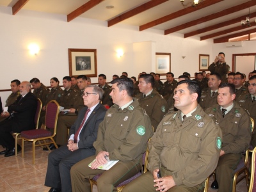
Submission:
[[[243,15],[241,17],[237,17],[236,19],[227,20],[227,21],[221,22],[219,24],[216,24],[216,25],[213,25],[213,26],[209,26],[207,28],[198,29],[196,31],[185,33],[184,34],[184,38],[187,38],[189,36],[195,36],[195,35],[198,35],[200,33],[205,33],[207,31],[212,31],[212,30],[215,30],[215,29],[220,29],[220,28],[223,28],[225,26],[229,26],[231,24],[235,24],[235,23],[238,23],[238,22],[240,23],[241,20],[244,20],[246,17],[248,17],[248,15]],[[250,18],[253,18],[253,17],[256,17],[256,12],[250,13]]]

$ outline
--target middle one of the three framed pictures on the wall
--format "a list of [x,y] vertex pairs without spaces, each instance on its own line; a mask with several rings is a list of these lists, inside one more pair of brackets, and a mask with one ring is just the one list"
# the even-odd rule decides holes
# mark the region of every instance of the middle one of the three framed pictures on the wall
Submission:
[[171,71],[171,54],[165,52],[156,52],[156,74],[165,76]]

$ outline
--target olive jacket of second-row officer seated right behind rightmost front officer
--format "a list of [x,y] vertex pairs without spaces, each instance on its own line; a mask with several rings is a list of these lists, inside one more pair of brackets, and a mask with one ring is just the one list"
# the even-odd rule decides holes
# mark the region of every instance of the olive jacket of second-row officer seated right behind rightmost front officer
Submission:
[[209,116],[220,124],[223,134],[221,150],[225,154],[240,154],[249,148],[251,141],[250,116],[236,101],[234,107],[223,118],[218,104],[205,110]]

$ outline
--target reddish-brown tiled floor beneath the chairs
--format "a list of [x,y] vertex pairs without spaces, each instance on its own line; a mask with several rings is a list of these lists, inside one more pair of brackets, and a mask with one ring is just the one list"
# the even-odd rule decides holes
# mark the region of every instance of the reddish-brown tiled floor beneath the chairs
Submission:
[[[0,151],[3,148],[0,146]],[[47,169],[47,156],[49,152],[36,148],[35,165],[32,164],[32,145],[31,142],[25,143],[24,159],[21,158],[21,152],[18,156],[4,157],[0,156],[0,191],[49,191],[50,188],[44,186],[45,173]],[[209,182],[209,192],[217,192],[211,189],[212,177]],[[237,185],[237,192],[247,191],[245,180]],[[96,186],[93,186],[93,192],[97,192]],[[136,191],[134,191],[136,192]]]

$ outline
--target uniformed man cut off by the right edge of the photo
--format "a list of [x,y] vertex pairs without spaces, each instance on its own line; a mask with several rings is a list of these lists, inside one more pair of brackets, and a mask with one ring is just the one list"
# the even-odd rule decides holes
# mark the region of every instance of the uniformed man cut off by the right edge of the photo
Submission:
[[[254,123],[256,123],[256,76],[250,77],[248,82],[248,91],[249,93],[244,95],[244,97],[239,99],[237,102],[239,106],[248,111],[250,116],[253,118]],[[253,130],[251,143],[253,148],[256,147],[256,129]]]

